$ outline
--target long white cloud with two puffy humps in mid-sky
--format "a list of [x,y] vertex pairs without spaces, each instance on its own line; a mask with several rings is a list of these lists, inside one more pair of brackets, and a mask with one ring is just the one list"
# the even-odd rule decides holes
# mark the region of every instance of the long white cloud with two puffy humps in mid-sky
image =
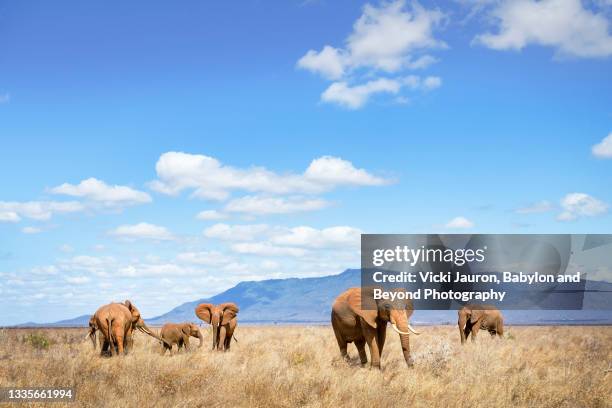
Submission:
[[[318,169],[335,166],[334,178],[321,177]],[[380,186],[390,181],[358,169],[349,161],[323,156],[313,160],[303,174],[278,174],[264,167],[237,168],[199,154],[167,152],[155,166],[158,180],[150,183],[155,191],[175,195],[193,189],[196,197],[225,200],[232,190],[268,194],[314,194],[341,185]]]

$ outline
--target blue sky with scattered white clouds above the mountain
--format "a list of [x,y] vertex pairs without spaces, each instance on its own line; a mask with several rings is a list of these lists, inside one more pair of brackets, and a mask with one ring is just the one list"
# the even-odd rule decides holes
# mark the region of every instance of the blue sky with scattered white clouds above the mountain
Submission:
[[607,2],[227,3],[0,1],[0,324],[610,232]]

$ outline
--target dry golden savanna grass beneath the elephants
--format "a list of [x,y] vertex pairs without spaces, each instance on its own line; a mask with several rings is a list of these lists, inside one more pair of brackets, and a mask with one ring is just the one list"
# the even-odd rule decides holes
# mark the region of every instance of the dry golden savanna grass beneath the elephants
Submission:
[[203,329],[202,349],[172,356],[137,333],[120,358],[99,357],[86,329],[5,329],[0,386],[74,387],[72,407],[612,406],[612,327],[507,327],[463,347],[454,326],[420,329],[412,369],[389,330],[382,372],[361,368],[353,345],[341,360],[326,326],[239,326],[229,353]]

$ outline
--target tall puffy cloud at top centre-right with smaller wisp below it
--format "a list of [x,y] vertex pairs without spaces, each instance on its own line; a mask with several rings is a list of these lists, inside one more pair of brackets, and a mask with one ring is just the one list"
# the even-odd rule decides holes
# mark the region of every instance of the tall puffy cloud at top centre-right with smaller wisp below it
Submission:
[[[309,50],[297,66],[335,81],[322,93],[323,102],[359,109],[372,95],[395,95],[409,85],[401,76],[378,78],[379,73],[424,69],[437,61],[425,52],[446,47],[433,35],[444,19],[439,10],[427,10],[416,2],[410,8],[403,0],[380,7],[366,4],[344,48],[326,45],[321,51]],[[441,83],[440,78],[429,77],[423,86],[407,88],[431,90]]]

